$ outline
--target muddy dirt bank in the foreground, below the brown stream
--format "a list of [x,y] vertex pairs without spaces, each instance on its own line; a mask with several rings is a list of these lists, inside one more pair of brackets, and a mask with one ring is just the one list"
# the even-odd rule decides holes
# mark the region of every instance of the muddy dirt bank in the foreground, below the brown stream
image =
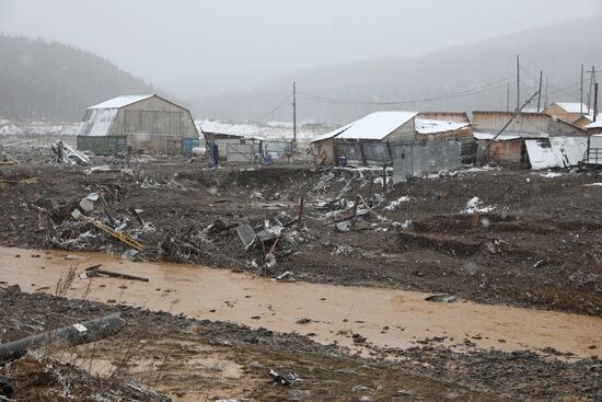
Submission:
[[[566,363],[529,352],[453,353],[432,340],[412,349],[378,351],[367,359],[298,334],[23,294],[15,287],[0,288],[0,308],[5,312],[0,317],[2,342],[111,312],[119,312],[127,322],[115,337],[76,349],[49,347],[1,367],[0,376],[11,381],[14,397],[23,401],[100,400],[92,397],[102,392],[105,400],[115,400],[109,394],[114,392],[124,400],[144,401],[159,401],[161,395],[173,401],[597,401],[602,397],[602,365],[595,358]],[[276,384],[269,369],[294,372],[299,381]],[[39,372],[46,372],[42,380]],[[131,394],[150,389],[158,394]]]

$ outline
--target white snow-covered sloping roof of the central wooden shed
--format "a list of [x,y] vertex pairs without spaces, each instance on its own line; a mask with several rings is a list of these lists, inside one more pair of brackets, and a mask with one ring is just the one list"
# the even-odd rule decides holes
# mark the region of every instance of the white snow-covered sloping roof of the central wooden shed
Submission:
[[314,139],[314,141],[333,137],[341,139],[381,140],[409,122],[417,114],[417,112],[374,112],[363,116],[359,120],[355,120],[354,123],[325,134]]

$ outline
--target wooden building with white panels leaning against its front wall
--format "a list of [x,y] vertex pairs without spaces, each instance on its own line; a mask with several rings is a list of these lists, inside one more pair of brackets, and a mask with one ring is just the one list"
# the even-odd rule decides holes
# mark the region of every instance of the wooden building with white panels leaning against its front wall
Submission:
[[545,113],[473,112],[473,126],[482,164],[567,168],[587,150],[584,129]]

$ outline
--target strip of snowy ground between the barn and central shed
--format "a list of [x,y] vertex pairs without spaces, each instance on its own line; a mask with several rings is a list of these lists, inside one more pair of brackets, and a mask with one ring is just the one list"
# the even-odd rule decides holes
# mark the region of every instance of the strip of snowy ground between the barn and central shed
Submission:
[[[230,134],[243,137],[257,137],[263,139],[292,139],[292,124],[282,122],[268,122],[266,124],[258,123],[231,123],[201,119],[195,120],[199,131]],[[332,127],[320,124],[303,124],[298,126],[297,138],[299,140],[312,140]]]

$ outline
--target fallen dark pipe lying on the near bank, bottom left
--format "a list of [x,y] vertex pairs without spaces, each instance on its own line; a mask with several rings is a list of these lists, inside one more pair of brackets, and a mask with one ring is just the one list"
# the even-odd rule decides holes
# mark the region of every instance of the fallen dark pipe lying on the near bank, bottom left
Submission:
[[96,320],[77,323],[1,344],[0,364],[21,358],[27,354],[27,351],[55,342],[65,342],[69,346],[77,346],[100,341],[117,334],[125,325],[126,321],[118,313],[114,313]]

